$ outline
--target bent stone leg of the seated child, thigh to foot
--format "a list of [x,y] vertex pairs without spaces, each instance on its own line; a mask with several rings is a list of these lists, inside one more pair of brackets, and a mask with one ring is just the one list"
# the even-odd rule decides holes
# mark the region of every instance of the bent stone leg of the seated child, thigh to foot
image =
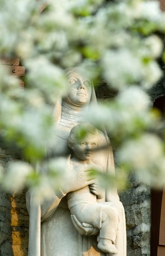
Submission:
[[117,254],[114,244],[117,237],[119,217],[113,203],[79,204],[72,207],[70,211],[81,223],[89,223],[100,230],[98,248],[102,252]]

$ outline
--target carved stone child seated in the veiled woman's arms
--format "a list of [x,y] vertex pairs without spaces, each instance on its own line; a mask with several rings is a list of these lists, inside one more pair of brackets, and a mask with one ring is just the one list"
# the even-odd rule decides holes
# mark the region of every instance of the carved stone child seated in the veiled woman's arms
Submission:
[[[86,132],[83,138],[82,131]],[[77,169],[82,169],[82,172],[89,169],[102,171],[101,166],[92,162],[99,140],[100,135],[93,125],[81,123],[73,127],[68,138],[68,146],[73,150],[73,172]],[[81,223],[89,223],[100,230],[97,246],[102,252],[117,254],[115,241],[119,218],[113,202],[97,202],[97,199],[103,200],[104,197],[105,193],[94,183],[68,193],[68,207]]]

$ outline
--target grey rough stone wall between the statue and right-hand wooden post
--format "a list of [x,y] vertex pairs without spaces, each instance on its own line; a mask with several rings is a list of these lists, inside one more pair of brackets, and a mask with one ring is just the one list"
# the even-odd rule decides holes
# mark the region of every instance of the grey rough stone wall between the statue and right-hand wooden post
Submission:
[[131,177],[120,200],[127,222],[127,256],[150,256],[150,188]]

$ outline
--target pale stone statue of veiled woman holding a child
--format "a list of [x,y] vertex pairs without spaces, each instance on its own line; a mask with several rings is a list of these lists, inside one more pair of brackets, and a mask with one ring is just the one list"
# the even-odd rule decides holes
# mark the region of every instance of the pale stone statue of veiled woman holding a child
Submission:
[[[105,129],[85,120],[96,105],[92,81],[78,67],[65,70],[68,91],[55,107],[56,134],[48,156],[69,160],[72,172],[65,188],[37,205],[30,190],[29,256],[126,256],[125,214],[116,188],[101,189],[91,169],[115,175],[111,143]],[[81,130],[85,136],[79,136]],[[97,148],[97,150],[96,150]]]

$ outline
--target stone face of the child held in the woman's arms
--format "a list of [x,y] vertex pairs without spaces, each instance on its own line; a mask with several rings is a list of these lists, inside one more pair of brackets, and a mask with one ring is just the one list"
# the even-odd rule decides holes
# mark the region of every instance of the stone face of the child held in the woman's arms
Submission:
[[98,146],[97,135],[87,135],[79,143],[72,147],[76,157],[81,160],[90,160],[92,158],[93,149]]

